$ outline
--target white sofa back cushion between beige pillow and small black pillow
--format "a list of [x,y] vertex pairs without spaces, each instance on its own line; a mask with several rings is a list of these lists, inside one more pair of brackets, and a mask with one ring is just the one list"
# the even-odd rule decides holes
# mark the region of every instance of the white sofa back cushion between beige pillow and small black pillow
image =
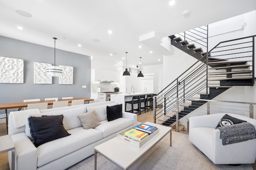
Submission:
[[104,121],[107,119],[107,106],[114,106],[117,104],[118,103],[111,103],[95,107],[87,107],[87,112],[94,110],[95,114],[97,115],[98,121]]

